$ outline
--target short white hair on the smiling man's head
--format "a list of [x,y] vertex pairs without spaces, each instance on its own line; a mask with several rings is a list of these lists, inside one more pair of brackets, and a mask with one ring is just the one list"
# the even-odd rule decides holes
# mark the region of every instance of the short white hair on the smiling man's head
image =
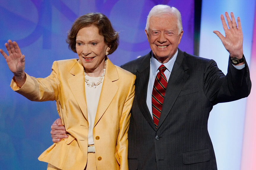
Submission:
[[170,14],[174,15],[177,18],[177,27],[178,27],[178,33],[181,33],[182,31],[182,22],[181,22],[181,13],[179,10],[175,7],[170,7],[168,5],[156,5],[154,6],[147,17],[147,23],[146,23],[146,30],[148,31],[149,28],[149,19],[150,17],[162,17],[164,14]]

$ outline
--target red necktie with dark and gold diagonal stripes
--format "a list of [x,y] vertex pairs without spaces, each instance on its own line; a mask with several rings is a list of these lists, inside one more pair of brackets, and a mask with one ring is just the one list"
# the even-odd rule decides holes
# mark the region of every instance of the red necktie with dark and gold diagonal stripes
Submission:
[[165,77],[165,70],[166,67],[162,64],[158,68],[159,72],[157,73],[153,90],[152,90],[152,114],[153,114],[153,120],[154,124],[157,128],[163,102],[164,102],[164,97],[165,97],[165,90],[167,87],[167,79]]

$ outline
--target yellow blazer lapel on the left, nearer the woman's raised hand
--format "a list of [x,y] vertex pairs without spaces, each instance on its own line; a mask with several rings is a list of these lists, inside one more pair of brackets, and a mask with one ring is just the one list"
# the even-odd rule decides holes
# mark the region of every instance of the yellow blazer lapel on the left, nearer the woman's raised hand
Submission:
[[73,95],[75,96],[78,106],[83,113],[83,116],[88,121],[83,70],[84,68],[82,66],[82,63],[80,60],[78,60],[70,70],[70,74],[74,76],[68,79],[68,84]]

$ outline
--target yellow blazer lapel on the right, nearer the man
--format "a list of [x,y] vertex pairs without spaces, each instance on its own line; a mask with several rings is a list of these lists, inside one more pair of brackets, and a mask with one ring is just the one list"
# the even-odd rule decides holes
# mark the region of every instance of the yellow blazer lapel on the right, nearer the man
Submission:
[[94,127],[99,122],[100,118],[103,116],[105,111],[108,109],[108,106],[112,102],[116,92],[118,90],[118,86],[113,83],[118,80],[118,72],[116,70],[116,66],[111,63],[109,59],[107,59],[107,67],[106,73],[103,80],[102,90],[99,97],[98,108],[95,116]]

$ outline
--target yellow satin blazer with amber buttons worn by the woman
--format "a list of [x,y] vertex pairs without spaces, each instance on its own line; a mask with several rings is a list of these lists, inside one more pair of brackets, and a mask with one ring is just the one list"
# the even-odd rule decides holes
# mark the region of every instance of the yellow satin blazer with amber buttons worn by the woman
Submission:
[[[55,100],[58,114],[69,132],[54,143],[39,160],[62,170],[84,170],[87,163],[88,129],[84,68],[79,59],[54,61],[46,78],[26,74],[19,88],[11,87],[31,101]],[[93,128],[97,169],[128,170],[127,132],[134,98],[135,75],[107,59],[106,73]]]

